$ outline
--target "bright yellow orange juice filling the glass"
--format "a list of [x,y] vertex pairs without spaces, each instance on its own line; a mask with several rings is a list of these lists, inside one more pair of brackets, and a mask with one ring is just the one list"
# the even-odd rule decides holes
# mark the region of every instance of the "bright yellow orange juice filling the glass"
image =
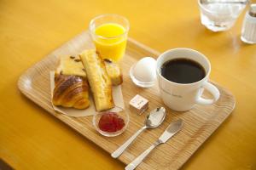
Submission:
[[119,24],[106,23],[97,26],[93,41],[97,52],[103,59],[119,61],[125,54],[127,33],[125,28]]

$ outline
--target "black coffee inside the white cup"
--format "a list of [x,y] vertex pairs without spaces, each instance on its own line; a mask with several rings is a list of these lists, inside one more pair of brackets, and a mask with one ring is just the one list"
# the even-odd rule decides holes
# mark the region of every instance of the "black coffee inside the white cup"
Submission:
[[160,73],[171,82],[183,84],[198,82],[206,77],[206,71],[199,63],[184,58],[166,61],[162,65]]

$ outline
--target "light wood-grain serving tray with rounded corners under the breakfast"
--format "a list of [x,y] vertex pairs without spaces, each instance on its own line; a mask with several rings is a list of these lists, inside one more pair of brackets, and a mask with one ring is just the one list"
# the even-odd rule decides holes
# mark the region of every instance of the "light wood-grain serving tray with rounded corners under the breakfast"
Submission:
[[[131,137],[140,127],[143,126],[145,116],[137,116],[129,110],[129,101],[136,94],[149,99],[149,110],[164,105],[158,94],[158,88],[137,88],[129,77],[129,69],[138,59],[144,56],[156,57],[158,52],[143,44],[128,40],[125,58],[122,62],[124,83],[122,85],[125,99],[125,108],[130,114],[130,123],[125,133],[114,138],[106,138],[97,133],[92,125],[92,116],[74,118],[56,113],[50,102],[49,92],[49,71],[54,71],[57,64],[57,56],[66,54],[78,54],[85,48],[91,48],[90,36],[84,31],[71,41],[65,43],[61,48],[47,55],[43,60],[29,68],[18,82],[20,91],[33,102],[40,105],[44,110],[65,122],[69,127],[90,139],[95,144],[102,147],[103,150],[112,153],[120,144]],[[166,129],[168,124],[177,118],[184,121],[183,129],[177,133],[166,144],[157,147],[137,169],[177,169],[197,150],[201,144],[220,126],[222,122],[230,115],[235,107],[235,98],[229,91],[215,83],[220,91],[220,99],[214,105],[201,106],[196,105],[194,109],[188,112],[175,112],[167,109],[166,121],[158,128],[145,131],[131,146],[125,150],[119,160],[125,164],[130,163],[139,156],[143,150],[146,150],[160,134]],[[209,97],[210,94],[204,94]]]

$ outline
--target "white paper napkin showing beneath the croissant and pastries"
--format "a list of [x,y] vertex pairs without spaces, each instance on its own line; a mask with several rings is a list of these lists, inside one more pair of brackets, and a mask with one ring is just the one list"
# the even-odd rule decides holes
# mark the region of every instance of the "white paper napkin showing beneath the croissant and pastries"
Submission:
[[[55,71],[49,71],[49,82],[50,82],[50,94],[51,94],[51,99],[52,99],[53,92],[55,89]],[[113,94],[113,103],[114,103],[115,107],[109,111],[113,111],[113,112],[124,111],[125,104],[124,104],[121,85],[114,86],[112,88],[112,94]],[[83,110],[74,109],[74,108],[66,108],[66,107],[62,107],[62,106],[55,106],[52,103],[51,104],[55,111],[61,112],[67,116],[74,116],[74,117],[91,116],[91,115],[95,115],[97,113],[97,111],[95,109],[94,101],[92,99],[91,94],[89,96],[89,99],[90,99],[90,106],[87,109],[83,109]]]

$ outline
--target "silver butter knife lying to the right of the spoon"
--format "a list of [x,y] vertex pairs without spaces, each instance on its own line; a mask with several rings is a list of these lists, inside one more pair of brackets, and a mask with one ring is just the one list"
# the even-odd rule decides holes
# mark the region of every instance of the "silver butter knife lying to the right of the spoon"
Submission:
[[181,128],[183,127],[183,121],[181,119],[178,119],[175,122],[172,122],[167,128],[164,133],[161,134],[160,138],[152,144],[148,150],[145,150],[140,156],[137,156],[137,158],[129,165],[125,167],[125,170],[132,170],[135,169],[142,161],[145,159],[146,156],[150,153],[151,150],[153,150],[156,146],[159,144],[164,144],[168,139],[171,139],[174,134],[176,134]]

